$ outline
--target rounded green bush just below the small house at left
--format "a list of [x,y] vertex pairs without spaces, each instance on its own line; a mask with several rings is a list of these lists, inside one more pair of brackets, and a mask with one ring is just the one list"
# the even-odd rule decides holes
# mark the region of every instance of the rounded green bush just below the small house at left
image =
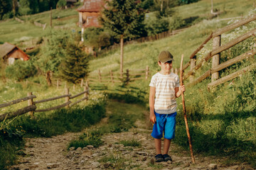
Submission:
[[8,77],[9,79],[21,81],[23,79],[27,79],[28,77],[33,77],[36,74],[37,70],[31,60],[28,60],[26,62],[16,60],[14,64],[6,67],[5,72],[6,77]]

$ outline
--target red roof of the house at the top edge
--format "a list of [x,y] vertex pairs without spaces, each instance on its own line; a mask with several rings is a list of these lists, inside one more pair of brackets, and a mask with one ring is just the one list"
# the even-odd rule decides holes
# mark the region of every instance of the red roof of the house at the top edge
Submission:
[[77,9],[79,12],[100,12],[104,6],[103,0],[84,0],[84,5]]

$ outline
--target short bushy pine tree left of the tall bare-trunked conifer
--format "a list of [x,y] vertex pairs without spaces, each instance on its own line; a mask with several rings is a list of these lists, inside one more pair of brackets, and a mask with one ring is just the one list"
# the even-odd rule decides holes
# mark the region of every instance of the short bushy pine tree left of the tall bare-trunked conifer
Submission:
[[70,42],[66,48],[65,60],[60,67],[60,77],[77,83],[88,74],[88,55],[82,51],[78,42]]

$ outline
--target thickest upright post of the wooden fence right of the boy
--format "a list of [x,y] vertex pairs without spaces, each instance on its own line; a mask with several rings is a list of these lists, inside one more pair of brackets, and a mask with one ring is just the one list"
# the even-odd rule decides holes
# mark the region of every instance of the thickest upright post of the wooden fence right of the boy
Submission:
[[[217,37],[213,38],[213,50],[217,49],[218,47],[220,47],[220,35],[218,35]],[[220,53],[218,53],[217,55],[213,56],[213,61],[212,61],[212,69],[214,69],[215,67],[218,66],[218,64],[220,64]],[[218,79],[219,77],[219,73],[215,72],[212,74],[211,77],[211,81],[215,81],[216,79]]]

